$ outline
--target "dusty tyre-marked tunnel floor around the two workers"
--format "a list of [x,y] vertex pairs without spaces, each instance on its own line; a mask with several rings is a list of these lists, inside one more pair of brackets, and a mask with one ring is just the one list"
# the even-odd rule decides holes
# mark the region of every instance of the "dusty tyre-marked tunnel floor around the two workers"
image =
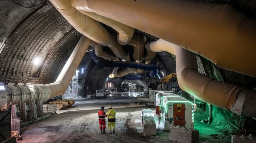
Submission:
[[[168,132],[157,132],[152,138],[140,135],[140,114],[144,105],[134,104],[136,94],[123,92],[113,93],[107,99],[76,99],[71,108],[57,111],[57,115],[22,128],[23,140],[18,143],[170,142]],[[117,111],[116,134],[100,134],[97,113],[101,106],[105,106],[107,112],[109,105]],[[151,109],[154,113],[154,108]],[[210,140],[204,138],[200,142],[208,141]]]

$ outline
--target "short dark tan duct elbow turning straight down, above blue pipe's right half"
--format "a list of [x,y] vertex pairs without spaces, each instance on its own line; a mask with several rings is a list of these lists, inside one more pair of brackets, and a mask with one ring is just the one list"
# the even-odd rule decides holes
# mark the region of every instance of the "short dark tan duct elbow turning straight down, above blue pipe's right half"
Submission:
[[128,43],[129,45],[132,45],[134,47],[133,58],[136,60],[137,63],[140,63],[143,60],[145,43],[146,37],[138,33],[135,33],[131,41]]

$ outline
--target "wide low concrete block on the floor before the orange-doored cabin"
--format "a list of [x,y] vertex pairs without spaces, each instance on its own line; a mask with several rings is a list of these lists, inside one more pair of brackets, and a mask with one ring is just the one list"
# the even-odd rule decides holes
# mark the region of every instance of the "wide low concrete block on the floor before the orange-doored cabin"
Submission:
[[169,139],[181,143],[197,143],[199,142],[199,131],[192,128],[173,126],[170,127]]

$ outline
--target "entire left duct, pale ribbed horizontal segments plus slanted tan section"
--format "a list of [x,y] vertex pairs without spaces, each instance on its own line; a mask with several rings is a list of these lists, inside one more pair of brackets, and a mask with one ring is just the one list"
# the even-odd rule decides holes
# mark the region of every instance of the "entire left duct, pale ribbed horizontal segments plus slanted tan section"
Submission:
[[71,56],[67,60],[64,68],[54,83],[50,84],[27,84],[9,83],[0,86],[0,108],[7,109],[10,104],[28,103],[29,100],[46,102],[48,99],[62,95],[66,91],[75,71],[77,70],[85,52],[87,51],[91,39],[81,37]]

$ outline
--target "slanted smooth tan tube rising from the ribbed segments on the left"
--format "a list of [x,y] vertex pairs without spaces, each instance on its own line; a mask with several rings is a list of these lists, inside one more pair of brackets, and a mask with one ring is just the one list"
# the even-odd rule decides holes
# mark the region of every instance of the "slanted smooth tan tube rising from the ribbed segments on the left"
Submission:
[[47,84],[51,91],[50,98],[64,94],[90,43],[91,39],[84,36],[81,37],[56,81]]

